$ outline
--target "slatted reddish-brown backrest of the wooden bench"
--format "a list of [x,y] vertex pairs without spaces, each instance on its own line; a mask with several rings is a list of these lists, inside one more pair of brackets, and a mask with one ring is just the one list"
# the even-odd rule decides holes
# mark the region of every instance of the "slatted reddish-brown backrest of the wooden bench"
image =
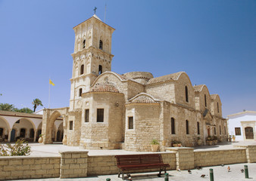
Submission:
[[163,163],[161,154],[116,155],[115,158],[117,158],[117,165]]

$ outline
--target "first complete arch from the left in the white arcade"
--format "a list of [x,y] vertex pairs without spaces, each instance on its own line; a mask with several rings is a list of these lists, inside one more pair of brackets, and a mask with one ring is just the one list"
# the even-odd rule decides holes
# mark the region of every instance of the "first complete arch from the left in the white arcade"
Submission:
[[29,142],[33,142],[33,137],[30,138],[30,131],[35,131],[33,122],[27,118],[20,118],[12,127],[11,142],[17,141],[19,139],[25,139]]

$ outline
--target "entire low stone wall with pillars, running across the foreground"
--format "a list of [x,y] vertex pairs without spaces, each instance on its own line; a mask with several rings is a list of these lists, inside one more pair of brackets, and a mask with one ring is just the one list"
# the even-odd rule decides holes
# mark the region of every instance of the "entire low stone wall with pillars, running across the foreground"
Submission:
[[[167,170],[187,170],[220,164],[256,162],[256,146],[239,146],[237,149],[195,150],[193,148],[167,148],[161,153],[164,163],[170,164]],[[117,174],[114,155],[88,156],[88,152],[60,152],[57,157],[14,156],[0,157],[0,180],[78,178]],[[152,153],[154,154],[154,153]],[[134,170],[130,173],[157,171]]]

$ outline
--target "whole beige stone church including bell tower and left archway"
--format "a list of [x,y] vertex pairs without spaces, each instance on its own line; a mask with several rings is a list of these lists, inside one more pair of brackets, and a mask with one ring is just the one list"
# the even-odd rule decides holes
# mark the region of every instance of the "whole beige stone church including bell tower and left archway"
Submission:
[[64,119],[64,144],[83,149],[161,151],[176,140],[196,146],[216,136],[227,140],[220,97],[206,85],[192,86],[186,72],[155,78],[150,72],[111,72],[114,28],[96,15],[73,27],[75,44],[70,107],[44,109],[44,143],[55,118]]

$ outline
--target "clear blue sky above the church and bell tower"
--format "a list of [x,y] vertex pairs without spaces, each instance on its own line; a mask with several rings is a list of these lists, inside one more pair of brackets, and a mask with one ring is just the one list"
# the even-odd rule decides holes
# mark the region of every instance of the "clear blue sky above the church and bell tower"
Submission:
[[[116,30],[112,71],[185,71],[219,94],[223,116],[256,111],[256,1],[0,0],[0,103],[69,106],[73,26],[93,15]],[[39,107],[41,109],[42,107]]]

